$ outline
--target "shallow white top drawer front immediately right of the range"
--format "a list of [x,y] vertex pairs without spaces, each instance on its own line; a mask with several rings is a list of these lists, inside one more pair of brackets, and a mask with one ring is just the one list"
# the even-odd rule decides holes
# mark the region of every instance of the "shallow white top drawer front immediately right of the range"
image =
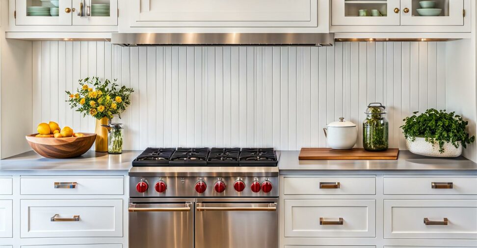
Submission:
[[[339,187],[330,187],[335,183]],[[284,194],[375,194],[376,178],[285,177],[283,187]]]

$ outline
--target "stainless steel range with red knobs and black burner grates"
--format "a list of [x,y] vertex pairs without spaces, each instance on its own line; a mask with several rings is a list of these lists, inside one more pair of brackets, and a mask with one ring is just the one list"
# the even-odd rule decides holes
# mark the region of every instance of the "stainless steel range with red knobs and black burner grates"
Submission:
[[272,148],[147,148],[132,162],[130,248],[277,248]]

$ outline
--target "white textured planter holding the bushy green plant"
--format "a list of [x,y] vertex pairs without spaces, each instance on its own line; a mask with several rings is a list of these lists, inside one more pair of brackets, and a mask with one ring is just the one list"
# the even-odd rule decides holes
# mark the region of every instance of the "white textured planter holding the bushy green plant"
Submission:
[[406,139],[407,149],[410,152],[429,156],[429,157],[438,157],[438,158],[456,158],[462,154],[462,144],[459,141],[459,148],[455,148],[450,142],[444,144],[444,152],[439,152],[439,144],[431,144],[425,141],[425,138],[416,138],[416,140],[411,141],[411,139]]

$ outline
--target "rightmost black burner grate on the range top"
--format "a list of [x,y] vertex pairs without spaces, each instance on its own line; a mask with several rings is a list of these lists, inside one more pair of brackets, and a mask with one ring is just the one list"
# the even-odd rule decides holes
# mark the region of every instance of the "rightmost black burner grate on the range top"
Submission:
[[238,156],[239,165],[277,165],[277,155],[273,148],[243,148]]

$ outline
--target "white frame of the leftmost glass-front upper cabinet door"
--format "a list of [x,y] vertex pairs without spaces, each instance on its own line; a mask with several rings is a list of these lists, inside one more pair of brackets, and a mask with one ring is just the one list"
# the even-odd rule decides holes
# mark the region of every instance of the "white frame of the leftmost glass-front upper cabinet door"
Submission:
[[[67,13],[66,9],[71,10],[71,0],[59,1],[59,15],[58,16],[30,16],[27,12],[27,7],[42,6],[54,7],[50,2],[42,3],[40,0],[16,0],[15,1],[15,25],[71,25],[71,16],[73,12]],[[47,13],[48,14],[48,13]]]

